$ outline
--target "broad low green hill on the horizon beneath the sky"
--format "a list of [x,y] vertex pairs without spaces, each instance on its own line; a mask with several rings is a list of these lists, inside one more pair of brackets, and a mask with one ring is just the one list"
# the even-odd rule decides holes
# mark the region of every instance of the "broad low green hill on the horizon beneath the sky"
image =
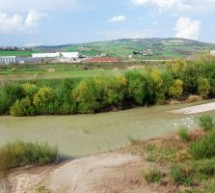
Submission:
[[188,57],[215,49],[215,44],[179,38],[118,39],[81,44],[39,46],[35,51],[78,51],[85,56],[111,56],[138,59]]

